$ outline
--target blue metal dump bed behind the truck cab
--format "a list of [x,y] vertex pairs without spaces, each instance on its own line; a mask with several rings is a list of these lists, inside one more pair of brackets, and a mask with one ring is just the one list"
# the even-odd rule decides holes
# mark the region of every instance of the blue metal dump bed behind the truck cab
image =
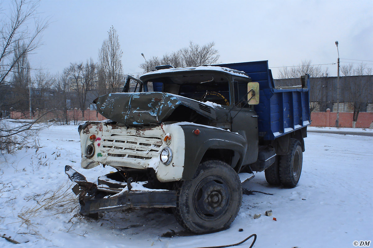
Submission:
[[303,87],[276,89],[268,61],[222,64],[234,70],[244,71],[253,82],[259,83],[258,132],[266,140],[273,140],[286,133],[310,125],[308,77],[299,79]]

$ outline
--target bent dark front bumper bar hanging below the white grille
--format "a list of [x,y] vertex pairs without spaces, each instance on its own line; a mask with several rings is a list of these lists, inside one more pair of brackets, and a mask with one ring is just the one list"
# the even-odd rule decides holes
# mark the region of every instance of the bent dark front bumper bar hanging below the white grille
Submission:
[[[79,194],[80,213],[88,215],[117,209],[126,209],[129,207],[176,207],[175,190],[157,190],[157,191],[120,191],[113,196],[100,197],[100,187],[86,180],[84,175],[75,171],[71,166],[65,166],[65,173],[71,181],[77,183],[73,187],[73,192]],[[129,189],[131,188],[128,185]],[[102,195],[102,194],[101,194]]]

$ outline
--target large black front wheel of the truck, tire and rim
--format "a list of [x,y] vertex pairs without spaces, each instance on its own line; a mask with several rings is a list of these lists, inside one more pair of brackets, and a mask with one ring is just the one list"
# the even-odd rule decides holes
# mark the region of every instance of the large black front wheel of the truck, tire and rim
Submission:
[[236,218],[242,202],[237,173],[219,160],[201,162],[194,177],[182,181],[177,190],[175,218],[194,233],[227,228]]

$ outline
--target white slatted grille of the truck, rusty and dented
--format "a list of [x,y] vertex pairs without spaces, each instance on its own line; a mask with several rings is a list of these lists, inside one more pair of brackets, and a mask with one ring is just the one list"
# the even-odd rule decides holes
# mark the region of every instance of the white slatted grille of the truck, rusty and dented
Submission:
[[103,137],[101,152],[110,157],[129,158],[131,160],[149,160],[158,156],[162,139],[137,135],[112,135]]

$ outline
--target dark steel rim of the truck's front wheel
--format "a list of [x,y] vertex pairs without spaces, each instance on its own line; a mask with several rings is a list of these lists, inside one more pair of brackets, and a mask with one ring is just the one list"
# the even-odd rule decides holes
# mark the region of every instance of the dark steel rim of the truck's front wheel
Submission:
[[224,178],[210,175],[198,183],[193,194],[193,206],[197,215],[204,220],[215,220],[229,208],[231,194]]

